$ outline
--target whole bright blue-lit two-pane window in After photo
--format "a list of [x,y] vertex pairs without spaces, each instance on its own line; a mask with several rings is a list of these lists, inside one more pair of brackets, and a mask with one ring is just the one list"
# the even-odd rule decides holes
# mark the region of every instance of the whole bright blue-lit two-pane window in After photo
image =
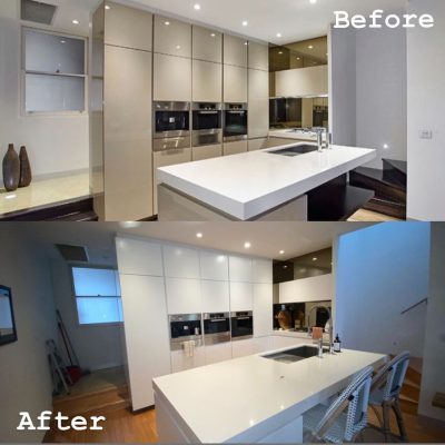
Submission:
[[79,325],[123,322],[117,270],[72,267],[71,271]]

